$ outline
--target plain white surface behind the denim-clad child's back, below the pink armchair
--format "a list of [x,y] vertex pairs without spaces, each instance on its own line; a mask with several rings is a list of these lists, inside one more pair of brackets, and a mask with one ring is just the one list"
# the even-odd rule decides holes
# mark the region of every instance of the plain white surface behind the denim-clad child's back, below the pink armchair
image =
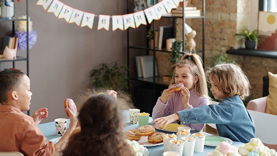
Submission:
[[255,137],[265,144],[274,145],[277,148],[277,115],[248,110],[254,125]]

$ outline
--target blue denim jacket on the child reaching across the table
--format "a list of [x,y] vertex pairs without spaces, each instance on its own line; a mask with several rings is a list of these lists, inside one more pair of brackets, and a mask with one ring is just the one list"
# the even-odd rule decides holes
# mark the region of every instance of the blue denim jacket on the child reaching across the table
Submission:
[[200,106],[177,112],[180,123],[215,123],[219,136],[247,143],[255,138],[253,120],[238,95],[218,105]]

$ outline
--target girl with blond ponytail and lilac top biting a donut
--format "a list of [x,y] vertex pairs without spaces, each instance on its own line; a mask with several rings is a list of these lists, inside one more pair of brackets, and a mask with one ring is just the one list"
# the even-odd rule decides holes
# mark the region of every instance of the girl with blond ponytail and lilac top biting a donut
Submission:
[[[152,118],[160,118],[180,110],[188,110],[194,107],[210,104],[207,82],[202,66],[202,60],[197,54],[185,54],[181,61],[174,65],[175,70],[170,85],[183,83],[185,87],[181,92],[166,89],[159,97],[153,108]],[[200,131],[205,123],[185,124]]]

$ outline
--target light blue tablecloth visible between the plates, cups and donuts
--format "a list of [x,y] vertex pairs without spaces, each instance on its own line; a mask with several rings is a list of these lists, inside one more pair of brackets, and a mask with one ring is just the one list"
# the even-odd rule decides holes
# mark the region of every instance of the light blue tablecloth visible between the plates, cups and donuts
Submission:
[[[127,122],[125,124],[125,127],[123,129],[123,131],[126,131],[128,129],[137,129],[139,128],[139,125],[138,124],[131,124],[129,121],[129,116],[124,113],[125,116],[126,116],[126,120],[125,122]],[[69,120],[67,120],[67,127],[69,126]],[[152,118],[150,117],[149,118],[149,125],[153,125],[153,123],[151,123],[152,121]],[[56,135],[56,128],[55,128],[55,122],[48,122],[48,123],[44,123],[44,124],[39,124],[38,125],[39,129],[42,131],[42,134],[47,138],[47,141],[50,141],[51,139],[54,139],[54,138],[58,138],[60,136],[57,136]],[[162,130],[157,130],[156,129],[156,132],[163,132],[165,134],[172,134],[170,132],[164,132]],[[197,133],[197,131],[195,130],[191,130],[191,134],[193,133]],[[212,135],[212,134],[208,134],[208,133],[205,133],[206,135]],[[236,147],[240,147],[240,146],[244,146],[244,143],[241,143],[241,142],[236,142],[236,141],[233,141],[232,145],[235,145]],[[150,146],[150,147],[147,147],[147,149],[149,150],[149,156],[162,156],[163,155],[163,145],[159,145],[159,146]],[[204,156],[206,153],[208,152],[211,152],[215,150],[215,147],[210,147],[210,146],[204,146],[204,151],[201,152],[201,153],[197,153],[197,152],[194,152],[194,156]]]

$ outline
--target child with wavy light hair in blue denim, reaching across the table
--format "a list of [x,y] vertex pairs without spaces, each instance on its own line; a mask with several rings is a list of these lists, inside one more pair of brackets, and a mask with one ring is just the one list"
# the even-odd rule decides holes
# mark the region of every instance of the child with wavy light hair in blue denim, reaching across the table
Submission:
[[[250,94],[247,76],[238,65],[219,64],[207,71],[211,91],[218,105],[212,104],[179,111],[168,117],[157,118],[154,127],[178,121],[178,123],[215,123],[219,136],[247,143],[255,138],[252,118],[242,100]],[[200,113],[201,112],[201,113]]]

